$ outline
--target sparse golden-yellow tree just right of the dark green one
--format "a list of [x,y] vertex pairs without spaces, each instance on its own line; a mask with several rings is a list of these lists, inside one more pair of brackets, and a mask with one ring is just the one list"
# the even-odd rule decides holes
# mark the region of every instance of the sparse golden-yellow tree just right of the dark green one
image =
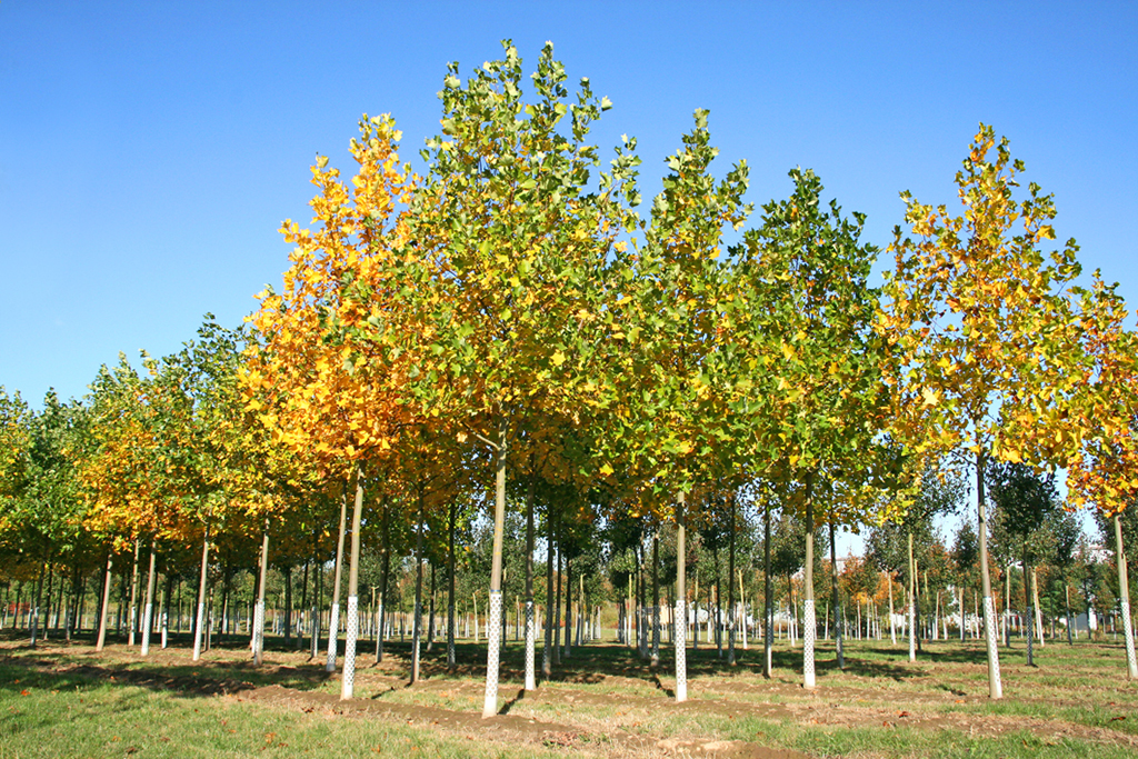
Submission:
[[1007,140],[981,124],[956,174],[960,216],[917,203],[908,192],[906,222],[894,231],[897,271],[881,328],[899,356],[899,409],[918,447],[964,451],[976,475],[980,569],[988,638],[989,695],[1003,694],[995,605],[988,571],[984,471],[990,459],[1046,463],[1067,440],[1049,424],[1063,407],[1072,360],[1064,324],[1069,287],[1079,274],[1077,246],[1045,250],[1055,239],[1052,196],[1031,183],[1017,198]]

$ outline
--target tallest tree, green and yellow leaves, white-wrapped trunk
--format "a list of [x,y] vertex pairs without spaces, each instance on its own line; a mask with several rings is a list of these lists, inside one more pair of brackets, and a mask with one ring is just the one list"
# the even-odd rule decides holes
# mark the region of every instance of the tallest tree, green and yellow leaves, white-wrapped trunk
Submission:
[[588,187],[599,160],[586,138],[607,100],[583,79],[567,102],[564,67],[546,44],[531,77],[537,99],[526,102],[521,60],[503,47],[505,58],[465,84],[450,67],[443,134],[427,142],[411,241],[395,262],[399,321],[373,323],[378,345],[413,356],[406,389],[415,407],[496,457],[484,716],[497,711],[511,446],[528,414],[577,403],[574,371],[587,346],[571,327],[595,316],[595,273],[620,221],[619,182],[602,175],[600,193]]

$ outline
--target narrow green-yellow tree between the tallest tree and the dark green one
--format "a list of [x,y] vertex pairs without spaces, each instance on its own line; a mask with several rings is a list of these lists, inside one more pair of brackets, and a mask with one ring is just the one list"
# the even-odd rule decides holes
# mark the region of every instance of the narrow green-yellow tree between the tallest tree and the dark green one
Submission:
[[745,162],[716,180],[710,166],[718,149],[710,142],[708,112],[696,110],[694,121],[683,147],[667,158],[670,173],[652,201],[643,244],[634,239],[632,251],[617,258],[604,312],[610,395],[600,396],[613,422],[605,444],[612,461],[601,473],[611,475],[612,464],[622,462],[633,490],[655,492],[641,494],[641,509],[676,522],[676,701],[687,698],[686,495],[718,480],[733,449],[716,423],[725,407],[715,356],[723,350],[724,313],[734,299],[723,236],[751,211],[742,200]]

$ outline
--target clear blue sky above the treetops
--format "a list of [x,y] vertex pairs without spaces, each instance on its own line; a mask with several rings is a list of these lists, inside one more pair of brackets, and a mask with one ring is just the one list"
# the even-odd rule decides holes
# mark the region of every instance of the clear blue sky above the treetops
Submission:
[[39,406],[100,364],[237,324],[310,218],[316,152],[351,168],[364,112],[405,156],[436,133],[446,63],[545,40],[612,99],[602,155],[640,139],[645,197],[698,107],[750,199],[811,167],[888,244],[898,192],[955,203],[978,122],[1054,192],[1056,231],[1131,304],[1136,3],[52,2],[0,0],[0,385]]

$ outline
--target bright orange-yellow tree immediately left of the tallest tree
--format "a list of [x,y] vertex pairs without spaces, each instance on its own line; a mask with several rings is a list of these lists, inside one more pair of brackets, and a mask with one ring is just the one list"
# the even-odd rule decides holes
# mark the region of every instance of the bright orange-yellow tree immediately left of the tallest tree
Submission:
[[[250,317],[261,336],[242,382],[248,406],[273,431],[274,439],[310,451],[324,468],[352,476],[352,544],[348,569],[348,625],[341,698],[353,694],[358,614],[360,526],[366,463],[390,455],[393,437],[413,420],[403,403],[406,356],[380,349],[363,336],[398,316],[390,271],[394,250],[406,238],[399,208],[410,198],[413,178],[399,162],[401,133],[388,116],[360,123],[351,143],[358,171],[353,190],[339,171],[320,158],[311,201],[315,230],[286,221],[286,240],[296,245],[281,295],[266,291]],[[341,508],[335,597],[339,597],[346,506]],[[329,668],[335,669],[338,603],[333,602]]]

